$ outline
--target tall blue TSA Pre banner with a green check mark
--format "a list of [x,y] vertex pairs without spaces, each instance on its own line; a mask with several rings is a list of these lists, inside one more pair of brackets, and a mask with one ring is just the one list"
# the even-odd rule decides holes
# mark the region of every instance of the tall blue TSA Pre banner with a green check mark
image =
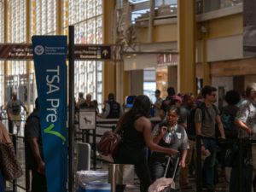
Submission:
[[67,36],[33,36],[48,192],[67,191]]

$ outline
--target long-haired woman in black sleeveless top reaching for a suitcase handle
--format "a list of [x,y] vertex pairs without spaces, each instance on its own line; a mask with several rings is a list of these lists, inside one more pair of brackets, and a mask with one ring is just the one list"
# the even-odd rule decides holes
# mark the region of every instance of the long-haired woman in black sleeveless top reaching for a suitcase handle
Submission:
[[[143,148],[145,143],[150,150],[177,155],[177,150],[162,148],[155,144],[151,135],[151,122],[147,119],[150,110],[148,96],[137,96],[131,110],[125,113],[117,124],[117,130],[123,133],[123,142],[115,157],[116,164],[132,164],[140,179],[141,191],[148,191],[151,184],[148,163]],[[116,191],[124,191],[125,185],[117,185]]]

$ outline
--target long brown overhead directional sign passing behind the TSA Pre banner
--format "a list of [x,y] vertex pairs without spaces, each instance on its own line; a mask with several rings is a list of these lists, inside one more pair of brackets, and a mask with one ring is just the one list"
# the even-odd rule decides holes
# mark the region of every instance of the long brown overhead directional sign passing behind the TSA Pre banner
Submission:
[[[74,47],[75,60],[111,61],[111,55],[111,45],[75,44]],[[32,44],[0,44],[0,60],[33,60]]]

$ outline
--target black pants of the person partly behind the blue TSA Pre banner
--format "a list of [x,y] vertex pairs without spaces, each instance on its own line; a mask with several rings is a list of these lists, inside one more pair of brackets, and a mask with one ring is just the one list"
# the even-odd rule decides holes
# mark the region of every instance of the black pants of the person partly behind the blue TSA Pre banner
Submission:
[[46,177],[32,170],[32,191],[31,192],[47,192]]

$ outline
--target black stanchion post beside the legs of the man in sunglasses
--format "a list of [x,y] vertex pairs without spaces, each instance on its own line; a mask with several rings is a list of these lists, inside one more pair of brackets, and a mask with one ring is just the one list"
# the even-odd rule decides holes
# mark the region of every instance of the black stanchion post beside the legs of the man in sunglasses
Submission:
[[196,144],[196,192],[201,192],[201,136],[197,135],[195,137]]

